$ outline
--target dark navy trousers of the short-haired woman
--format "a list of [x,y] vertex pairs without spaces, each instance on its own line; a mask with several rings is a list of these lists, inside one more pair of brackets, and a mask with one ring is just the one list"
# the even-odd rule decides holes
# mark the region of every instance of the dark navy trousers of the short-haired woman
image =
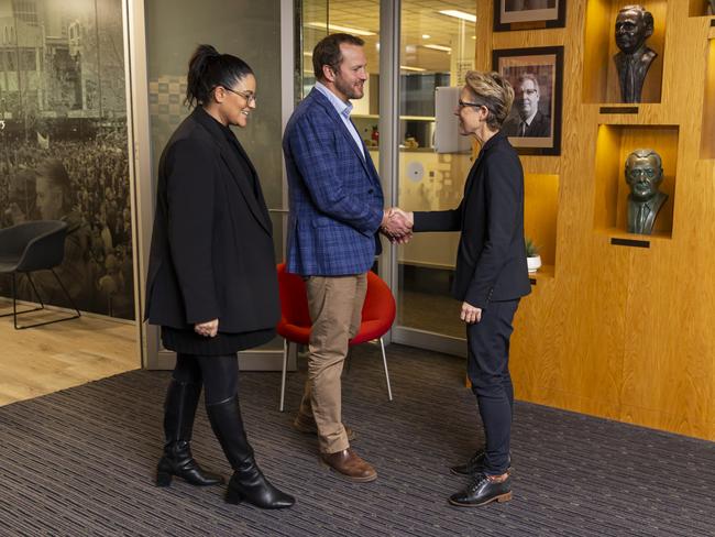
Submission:
[[466,325],[468,373],[484,425],[484,473],[501,475],[509,467],[514,386],[509,338],[519,299],[490,303],[482,320]]

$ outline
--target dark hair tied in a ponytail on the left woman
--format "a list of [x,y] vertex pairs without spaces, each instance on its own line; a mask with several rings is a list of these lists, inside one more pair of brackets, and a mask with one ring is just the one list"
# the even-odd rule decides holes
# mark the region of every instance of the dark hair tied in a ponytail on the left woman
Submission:
[[191,59],[186,76],[186,103],[206,105],[217,86],[231,88],[253,70],[243,59],[231,54],[219,54],[211,45],[199,45]]

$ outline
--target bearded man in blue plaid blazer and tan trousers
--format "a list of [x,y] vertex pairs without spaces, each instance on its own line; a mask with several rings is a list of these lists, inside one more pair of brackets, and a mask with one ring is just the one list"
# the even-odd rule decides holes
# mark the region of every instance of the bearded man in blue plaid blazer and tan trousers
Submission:
[[317,431],[322,461],[355,482],[373,481],[377,472],[350,448],[354,434],[342,424],[340,374],[348,341],[360,328],[366,273],[381,251],[378,232],[400,234],[383,210],[377,171],[350,120],[350,99],[363,97],[367,79],[363,45],[349,34],[316,45],[318,81],[283,138],[290,198],[287,271],[306,281],[312,322],[308,381],[294,426]]

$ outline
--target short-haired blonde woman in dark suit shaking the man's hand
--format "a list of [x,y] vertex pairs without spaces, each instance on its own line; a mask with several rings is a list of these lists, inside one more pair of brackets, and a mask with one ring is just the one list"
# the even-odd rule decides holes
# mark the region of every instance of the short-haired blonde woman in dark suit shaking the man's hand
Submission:
[[509,337],[520,297],[530,293],[524,243],[524,172],[499,132],[514,102],[514,89],[496,73],[470,72],[454,113],[463,135],[482,150],[457,209],[407,213],[413,231],[461,231],[453,296],[462,300],[468,371],[479,402],[486,446],[451,471],[473,475],[450,497],[459,506],[512,498],[509,438],[514,388]]

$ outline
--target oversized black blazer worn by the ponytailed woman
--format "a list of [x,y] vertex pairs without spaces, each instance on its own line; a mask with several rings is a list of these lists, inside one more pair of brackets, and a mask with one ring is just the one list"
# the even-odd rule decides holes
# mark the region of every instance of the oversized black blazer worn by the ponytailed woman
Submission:
[[274,328],[280,306],[272,233],[251,161],[198,107],[160,161],[146,319],[191,329],[218,318],[221,332]]

